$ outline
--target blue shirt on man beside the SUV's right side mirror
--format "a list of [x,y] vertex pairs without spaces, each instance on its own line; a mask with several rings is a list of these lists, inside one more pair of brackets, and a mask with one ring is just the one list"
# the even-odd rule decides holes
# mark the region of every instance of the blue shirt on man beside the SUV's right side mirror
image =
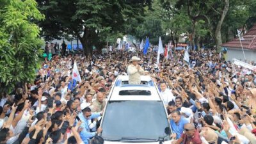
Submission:
[[184,125],[188,124],[188,121],[185,120],[182,116],[180,117],[179,122],[177,122],[177,124],[173,121],[170,120],[170,125],[172,127],[172,133],[176,133],[176,140],[178,140],[182,134],[182,132],[184,131]]

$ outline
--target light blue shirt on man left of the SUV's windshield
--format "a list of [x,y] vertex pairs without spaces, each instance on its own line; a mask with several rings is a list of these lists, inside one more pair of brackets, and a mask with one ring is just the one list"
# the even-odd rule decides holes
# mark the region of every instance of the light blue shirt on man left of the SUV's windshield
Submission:
[[100,113],[92,113],[90,118],[86,119],[83,115],[83,113],[79,113],[79,118],[82,121],[82,124],[80,127],[83,127],[83,130],[80,132],[81,139],[84,141],[84,144],[88,144],[88,140],[95,136],[95,132],[90,132],[89,129],[89,120],[92,120],[93,118],[97,118],[100,116]]

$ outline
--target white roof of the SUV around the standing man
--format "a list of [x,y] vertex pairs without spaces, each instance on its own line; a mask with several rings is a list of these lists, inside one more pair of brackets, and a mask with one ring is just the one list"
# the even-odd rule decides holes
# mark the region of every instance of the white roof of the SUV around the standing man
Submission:
[[[161,100],[159,91],[150,76],[141,76],[141,82],[145,84],[128,84],[129,76],[118,76],[108,100]],[[125,82],[125,83],[123,83]],[[127,82],[127,83],[126,83]],[[120,95],[120,91],[150,92],[150,95]]]

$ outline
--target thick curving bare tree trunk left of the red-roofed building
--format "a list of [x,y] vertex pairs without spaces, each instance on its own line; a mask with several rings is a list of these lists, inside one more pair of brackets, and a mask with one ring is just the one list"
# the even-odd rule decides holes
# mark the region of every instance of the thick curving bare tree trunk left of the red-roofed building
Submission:
[[227,12],[229,8],[229,0],[225,0],[225,6],[223,8],[223,11],[221,13],[221,18],[218,21],[218,24],[215,29],[215,41],[216,41],[216,50],[220,52],[221,50],[221,45],[222,45],[222,40],[221,40],[221,26],[223,24],[223,20],[225,19]]

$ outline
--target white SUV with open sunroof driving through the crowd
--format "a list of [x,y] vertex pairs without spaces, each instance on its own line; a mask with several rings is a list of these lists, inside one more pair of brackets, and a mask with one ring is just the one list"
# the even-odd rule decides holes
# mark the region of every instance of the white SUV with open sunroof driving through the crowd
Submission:
[[104,143],[168,143],[171,129],[159,90],[149,76],[128,84],[118,76],[101,121]]

